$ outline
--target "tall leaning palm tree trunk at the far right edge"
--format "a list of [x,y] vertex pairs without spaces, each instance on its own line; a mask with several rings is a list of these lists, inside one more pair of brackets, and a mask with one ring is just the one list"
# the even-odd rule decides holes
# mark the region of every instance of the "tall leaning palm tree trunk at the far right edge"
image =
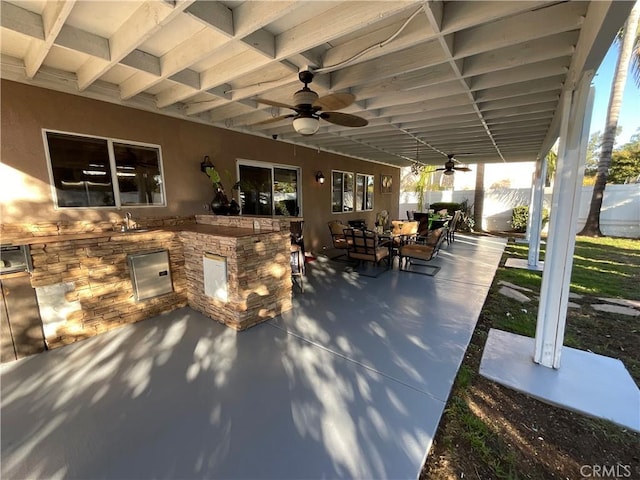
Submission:
[[602,232],[600,231],[600,210],[602,208],[604,189],[607,184],[607,176],[609,175],[609,167],[611,166],[611,152],[613,151],[613,144],[616,139],[620,106],[622,105],[622,93],[624,92],[624,87],[627,82],[627,72],[636,39],[639,14],[640,2],[636,3],[633,7],[624,25],[620,54],[611,86],[611,96],[609,97],[609,107],[607,109],[607,124],[604,134],[602,135],[602,150],[600,151],[596,182],[593,186],[593,195],[591,196],[591,204],[589,205],[589,214],[587,215],[587,221],[582,231],[580,231],[578,235],[590,237],[602,236]]

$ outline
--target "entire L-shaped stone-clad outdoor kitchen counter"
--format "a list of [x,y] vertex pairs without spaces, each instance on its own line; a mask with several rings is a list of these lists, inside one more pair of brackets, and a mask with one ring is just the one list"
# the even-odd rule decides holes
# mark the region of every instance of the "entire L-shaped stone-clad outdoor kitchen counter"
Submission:
[[[185,305],[236,330],[292,308],[287,219],[199,215],[141,219],[139,229],[127,233],[115,227],[90,222],[3,225],[4,243],[30,247],[29,281],[48,348]],[[128,259],[158,251],[168,256],[160,274],[170,275],[170,291],[137,296]],[[211,258],[223,267],[213,290],[205,278]]]

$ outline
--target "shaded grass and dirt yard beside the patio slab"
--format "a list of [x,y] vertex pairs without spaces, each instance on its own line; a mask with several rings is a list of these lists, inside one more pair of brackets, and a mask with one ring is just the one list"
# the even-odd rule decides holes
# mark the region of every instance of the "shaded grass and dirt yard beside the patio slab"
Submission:
[[[526,258],[509,242],[506,258]],[[544,259],[544,249],[541,252]],[[490,328],[533,337],[541,272],[500,267],[445,409],[421,478],[576,478],[580,465],[632,464],[640,478],[640,437],[602,420],[543,404],[477,372]],[[529,288],[522,304],[499,282]],[[620,359],[640,385],[638,317],[594,310],[600,298],[640,301],[640,241],[578,237],[570,289],[580,298],[567,314],[565,345]]]

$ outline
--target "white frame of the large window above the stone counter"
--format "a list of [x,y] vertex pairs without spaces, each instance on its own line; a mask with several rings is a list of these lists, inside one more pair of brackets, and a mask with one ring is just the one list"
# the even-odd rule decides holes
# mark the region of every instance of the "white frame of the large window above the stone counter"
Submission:
[[[82,137],[88,139],[97,139],[104,140],[107,142],[107,152],[109,155],[109,168],[111,169],[111,186],[113,189],[113,198],[114,205],[97,205],[97,206],[77,206],[77,207],[67,207],[60,206],[58,204],[58,191],[56,188],[56,181],[53,175],[53,165],[51,163],[51,153],[49,151],[49,142],[47,139],[47,133],[57,133],[61,135],[69,135],[74,137]],[[113,137],[103,137],[100,135],[88,135],[85,133],[75,133],[75,132],[67,132],[64,130],[54,130],[51,128],[43,128],[42,129],[42,141],[44,143],[44,153],[47,159],[47,171],[49,172],[49,186],[51,187],[51,198],[53,198],[53,208],[54,210],[122,210],[123,208],[166,208],[167,206],[167,189],[166,189],[166,181],[164,174],[164,162],[162,160],[162,147],[158,144],[154,143],[146,143],[146,142],[137,142],[134,140],[123,140],[120,138]],[[162,179],[162,203],[154,203],[154,204],[126,204],[123,205],[120,198],[120,184],[118,181],[117,175],[117,164],[115,158],[115,151],[113,148],[113,144],[117,143],[120,145],[131,145],[133,147],[147,147],[147,148],[155,148],[158,151],[158,166],[160,170],[160,178]]]

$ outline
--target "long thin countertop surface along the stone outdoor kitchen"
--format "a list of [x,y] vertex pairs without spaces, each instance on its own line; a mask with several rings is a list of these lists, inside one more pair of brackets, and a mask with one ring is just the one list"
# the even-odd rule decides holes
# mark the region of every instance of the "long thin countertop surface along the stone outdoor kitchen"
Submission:
[[219,225],[206,224],[187,224],[175,227],[152,227],[142,228],[140,230],[130,230],[129,232],[120,231],[101,231],[101,232],[84,232],[84,233],[68,233],[61,235],[47,235],[42,237],[21,237],[2,239],[2,245],[38,245],[42,243],[68,242],[76,240],[88,240],[94,238],[131,238],[137,239],[141,236],[155,235],[163,232],[192,232],[204,235],[213,235],[219,237],[240,238],[254,235],[262,235],[273,233],[271,230],[253,230],[252,228],[227,227]]

